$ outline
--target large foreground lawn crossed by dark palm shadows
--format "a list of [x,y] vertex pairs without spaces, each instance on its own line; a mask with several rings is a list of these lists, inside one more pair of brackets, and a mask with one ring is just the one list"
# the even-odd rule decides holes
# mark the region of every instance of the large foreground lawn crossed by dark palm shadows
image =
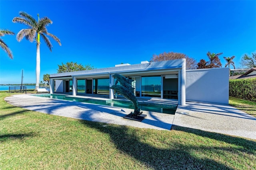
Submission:
[[256,140],[47,115],[0,93],[0,169],[256,169]]

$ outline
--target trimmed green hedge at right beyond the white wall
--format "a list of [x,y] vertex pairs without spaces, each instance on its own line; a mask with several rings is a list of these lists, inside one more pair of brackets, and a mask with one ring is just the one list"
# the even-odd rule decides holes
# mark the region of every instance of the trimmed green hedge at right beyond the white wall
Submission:
[[229,95],[256,101],[256,78],[229,80]]

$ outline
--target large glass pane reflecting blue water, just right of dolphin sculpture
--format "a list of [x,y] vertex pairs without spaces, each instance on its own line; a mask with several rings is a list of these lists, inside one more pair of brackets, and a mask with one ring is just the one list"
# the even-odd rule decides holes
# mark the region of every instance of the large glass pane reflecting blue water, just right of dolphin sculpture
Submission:
[[161,76],[141,77],[142,97],[161,97]]

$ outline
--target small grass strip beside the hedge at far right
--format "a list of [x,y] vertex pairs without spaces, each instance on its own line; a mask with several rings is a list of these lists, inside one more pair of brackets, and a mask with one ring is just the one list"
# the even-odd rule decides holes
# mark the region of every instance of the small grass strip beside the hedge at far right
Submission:
[[229,104],[237,109],[256,117],[256,102],[229,97]]

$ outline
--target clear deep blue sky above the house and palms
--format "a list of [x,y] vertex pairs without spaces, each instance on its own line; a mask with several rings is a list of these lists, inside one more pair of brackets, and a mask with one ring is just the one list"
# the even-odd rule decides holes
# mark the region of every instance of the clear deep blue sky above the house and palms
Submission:
[[[26,26],[12,23],[19,12],[47,16],[52,52],[42,41],[41,73],[57,73],[66,62],[96,68],[150,61],[164,51],[207,60],[207,51],[223,57],[235,55],[240,67],[244,54],[256,52],[256,1],[67,1],[0,0],[0,29],[17,34]],[[0,49],[0,84],[36,83],[36,43],[15,36],[1,37],[13,59]],[[233,68],[233,67],[231,67]]]

